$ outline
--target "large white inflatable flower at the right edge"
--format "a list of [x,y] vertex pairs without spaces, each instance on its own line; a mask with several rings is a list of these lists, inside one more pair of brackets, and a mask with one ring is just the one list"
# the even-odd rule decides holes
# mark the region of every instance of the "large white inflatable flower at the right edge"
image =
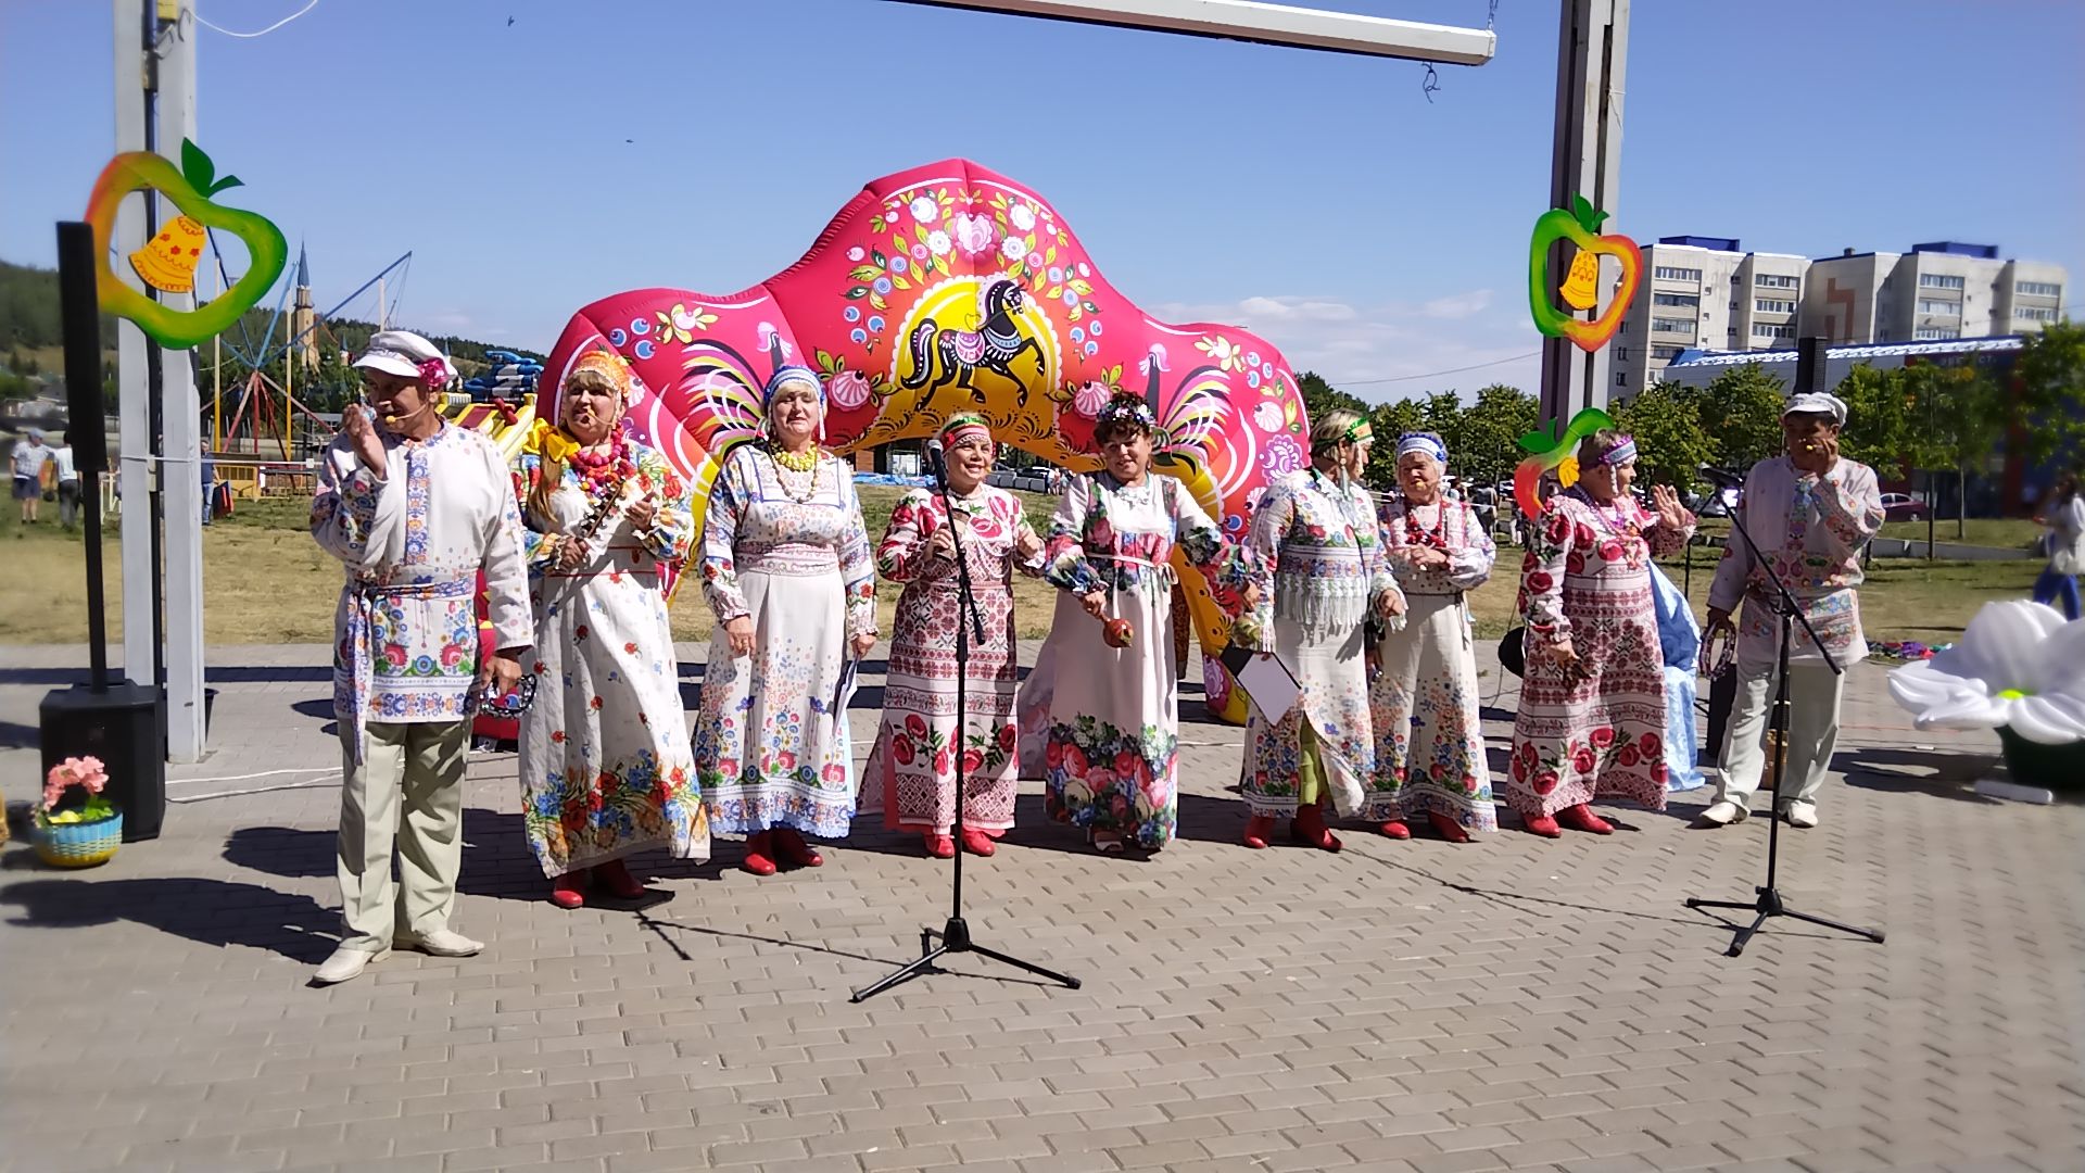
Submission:
[[1985,603],[1962,643],[1889,674],[1918,728],[2010,726],[2027,741],[2085,741],[2085,622],[2041,603]]

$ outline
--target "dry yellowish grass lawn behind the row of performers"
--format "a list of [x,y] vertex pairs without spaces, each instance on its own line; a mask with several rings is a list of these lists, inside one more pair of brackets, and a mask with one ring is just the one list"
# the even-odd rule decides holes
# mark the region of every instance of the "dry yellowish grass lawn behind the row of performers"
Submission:
[[[882,534],[901,490],[863,486],[861,507],[869,536]],[[1053,499],[1022,495],[1038,524],[1047,522]],[[319,551],[304,530],[306,503],[300,499],[242,501],[238,513],[204,530],[204,639],[208,643],[327,643],[334,637],[334,599],[340,568]],[[17,509],[0,516],[0,643],[81,643],[88,637],[83,607],[83,551],[77,532],[67,534],[46,505],[46,520],[21,526]],[[1993,522],[2008,524],[2008,522]],[[1706,522],[1712,530],[1718,522]],[[1941,530],[1949,530],[1941,524]],[[1972,524],[1974,532],[1974,524]],[[1995,545],[1995,543],[1993,543]],[[1695,549],[1689,597],[1697,614],[1706,607],[1716,572],[1714,549]],[[1505,632],[1518,589],[1520,551],[1499,551],[1499,574],[1472,593],[1478,635]],[[108,534],[104,553],[108,584],[108,632],[121,635],[121,551]],[[1674,582],[1689,576],[1681,559],[1668,559]],[[1862,618],[1870,639],[1916,639],[1952,643],[1968,618],[1993,599],[2025,599],[2041,572],[2041,561],[1924,561],[1879,559],[1862,589]],[[878,584],[882,630],[890,630],[894,582]],[[1015,580],[1015,614],[1022,639],[1049,632],[1055,597],[1030,578]],[[688,584],[673,599],[676,639],[709,639],[709,607]]]

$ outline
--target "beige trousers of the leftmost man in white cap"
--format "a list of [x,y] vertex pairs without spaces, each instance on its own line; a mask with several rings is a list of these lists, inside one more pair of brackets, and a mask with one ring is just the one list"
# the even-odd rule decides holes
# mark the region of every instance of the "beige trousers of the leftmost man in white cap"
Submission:
[[[367,733],[361,764],[342,743],[340,943],[377,952],[392,948],[400,931],[448,929],[463,866],[471,722],[371,722]],[[394,839],[398,879],[392,879]]]

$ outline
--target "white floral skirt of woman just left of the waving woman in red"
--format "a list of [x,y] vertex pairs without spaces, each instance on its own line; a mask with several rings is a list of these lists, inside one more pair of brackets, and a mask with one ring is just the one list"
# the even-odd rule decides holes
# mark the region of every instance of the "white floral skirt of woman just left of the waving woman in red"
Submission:
[[1403,630],[1376,645],[1368,818],[1441,814],[1464,831],[1497,831],[1468,612],[1453,595],[1405,595],[1405,603]]

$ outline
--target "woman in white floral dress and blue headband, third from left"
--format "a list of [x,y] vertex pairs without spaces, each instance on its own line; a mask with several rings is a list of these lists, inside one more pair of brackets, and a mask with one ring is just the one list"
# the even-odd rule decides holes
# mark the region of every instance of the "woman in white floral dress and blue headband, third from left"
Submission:
[[703,516],[703,597],[717,614],[694,724],[711,827],[746,837],[744,868],[815,868],[805,835],[855,816],[847,743],[853,660],[876,647],[876,570],[853,468],[817,438],[809,367],[767,380],[761,442],[726,457]]

